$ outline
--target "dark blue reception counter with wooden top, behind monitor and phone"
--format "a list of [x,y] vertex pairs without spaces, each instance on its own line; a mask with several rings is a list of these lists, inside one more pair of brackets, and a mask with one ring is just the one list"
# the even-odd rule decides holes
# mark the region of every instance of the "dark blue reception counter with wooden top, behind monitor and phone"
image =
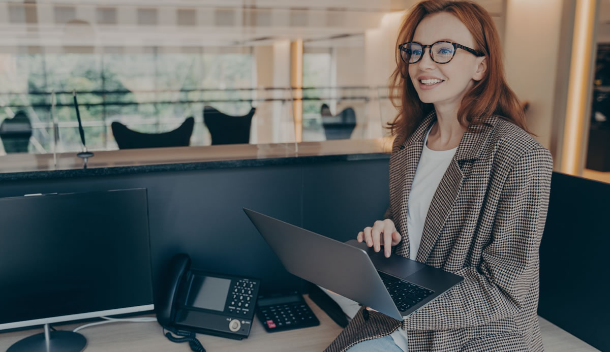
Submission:
[[[242,208],[341,241],[383,216],[391,141],[174,147],[0,157],[0,197],[146,188],[154,278],[173,254],[193,266],[304,290]],[[38,214],[32,214],[35,218]],[[86,230],[85,230],[86,232]]]

